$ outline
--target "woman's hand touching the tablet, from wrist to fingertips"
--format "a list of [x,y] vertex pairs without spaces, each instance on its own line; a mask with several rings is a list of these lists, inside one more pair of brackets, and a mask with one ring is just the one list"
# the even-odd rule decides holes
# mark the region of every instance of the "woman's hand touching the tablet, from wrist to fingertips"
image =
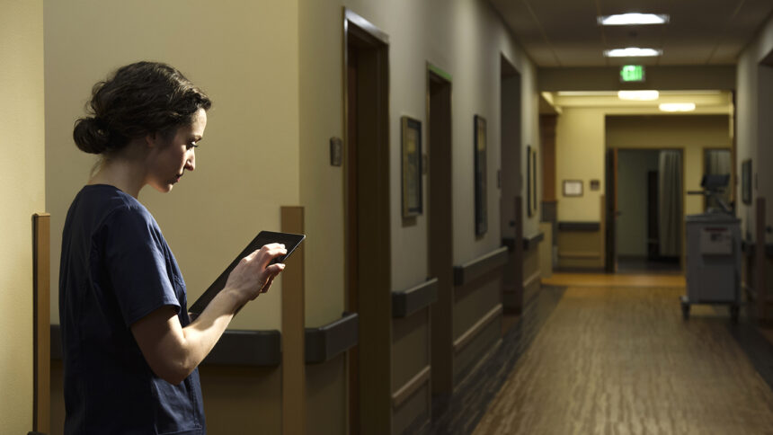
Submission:
[[228,275],[226,289],[233,290],[243,304],[265,293],[271,287],[274,278],[284,270],[281,263],[271,264],[271,260],[288,253],[284,244],[266,244],[261,249],[244,257]]

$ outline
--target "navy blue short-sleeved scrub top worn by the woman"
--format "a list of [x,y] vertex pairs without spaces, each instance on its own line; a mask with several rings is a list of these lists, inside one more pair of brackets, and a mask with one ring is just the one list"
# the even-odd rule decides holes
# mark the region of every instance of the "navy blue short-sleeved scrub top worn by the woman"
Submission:
[[85,186],[67,212],[59,270],[66,434],[206,433],[198,368],[169,384],[129,329],[162,306],[191,323],[155,219],[115,187]]

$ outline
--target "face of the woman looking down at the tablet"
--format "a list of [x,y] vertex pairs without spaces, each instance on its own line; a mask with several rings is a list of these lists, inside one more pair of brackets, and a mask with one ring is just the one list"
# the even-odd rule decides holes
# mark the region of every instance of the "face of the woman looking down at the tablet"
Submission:
[[207,127],[207,111],[199,109],[191,125],[177,129],[173,138],[167,140],[156,134],[147,157],[147,184],[156,191],[171,191],[174,184],[180,182],[185,170],[196,168],[196,143],[204,136]]

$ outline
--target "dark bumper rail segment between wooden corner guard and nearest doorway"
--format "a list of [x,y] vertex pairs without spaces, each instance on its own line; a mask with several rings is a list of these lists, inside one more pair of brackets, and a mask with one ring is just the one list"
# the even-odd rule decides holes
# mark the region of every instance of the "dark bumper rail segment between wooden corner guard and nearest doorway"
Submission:
[[306,363],[318,364],[333,360],[357,345],[359,320],[357,313],[344,313],[330,324],[306,328]]

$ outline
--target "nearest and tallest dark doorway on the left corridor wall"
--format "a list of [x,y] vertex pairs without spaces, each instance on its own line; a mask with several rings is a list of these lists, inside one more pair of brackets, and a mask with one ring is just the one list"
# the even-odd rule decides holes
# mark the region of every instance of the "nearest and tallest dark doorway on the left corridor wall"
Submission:
[[391,238],[387,34],[344,9],[346,307],[359,315],[349,351],[349,433],[391,431]]

